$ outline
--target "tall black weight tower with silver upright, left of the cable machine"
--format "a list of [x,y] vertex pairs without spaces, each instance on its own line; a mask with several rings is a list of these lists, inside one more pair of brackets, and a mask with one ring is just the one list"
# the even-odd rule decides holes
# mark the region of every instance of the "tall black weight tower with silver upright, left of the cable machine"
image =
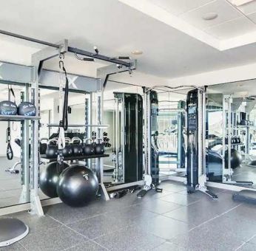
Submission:
[[114,97],[115,171],[113,183],[138,182],[142,180],[143,173],[143,100],[140,94],[134,93],[114,92]]

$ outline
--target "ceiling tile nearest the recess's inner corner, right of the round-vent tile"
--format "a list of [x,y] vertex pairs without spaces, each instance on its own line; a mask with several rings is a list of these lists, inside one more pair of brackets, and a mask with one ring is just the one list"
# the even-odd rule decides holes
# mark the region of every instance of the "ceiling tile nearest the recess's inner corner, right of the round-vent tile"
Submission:
[[234,38],[249,32],[255,32],[256,25],[252,21],[249,21],[248,18],[241,17],[210,27],[205,31],[216,38],[226,39]]

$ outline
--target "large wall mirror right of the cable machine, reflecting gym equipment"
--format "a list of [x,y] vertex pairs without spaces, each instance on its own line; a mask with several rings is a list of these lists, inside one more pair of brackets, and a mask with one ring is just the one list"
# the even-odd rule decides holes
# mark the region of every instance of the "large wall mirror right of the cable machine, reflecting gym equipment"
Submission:
[[209,181],[256,188],[255,80],[209,86],[207,92]]

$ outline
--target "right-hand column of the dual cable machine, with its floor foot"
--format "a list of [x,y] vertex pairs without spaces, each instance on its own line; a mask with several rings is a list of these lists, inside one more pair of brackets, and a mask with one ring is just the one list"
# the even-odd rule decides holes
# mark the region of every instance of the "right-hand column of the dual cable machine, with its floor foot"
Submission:
[[206,88],[189,91],[186,98],[187,114],[187,192],[201,191],[212,199],[215,193],[206,188]]

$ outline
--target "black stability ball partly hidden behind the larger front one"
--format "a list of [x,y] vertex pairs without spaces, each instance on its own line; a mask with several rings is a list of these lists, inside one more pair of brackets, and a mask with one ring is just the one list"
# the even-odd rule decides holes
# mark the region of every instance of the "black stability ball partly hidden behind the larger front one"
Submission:
[[56,185],[58,182],[58,176],[64,169],[68,168],[66,162],[63,163],[63,167],[58,172],[58,162],[50,162],[44,171],[40,174],[40,188],[42,192],[50,198],[58,197]]

